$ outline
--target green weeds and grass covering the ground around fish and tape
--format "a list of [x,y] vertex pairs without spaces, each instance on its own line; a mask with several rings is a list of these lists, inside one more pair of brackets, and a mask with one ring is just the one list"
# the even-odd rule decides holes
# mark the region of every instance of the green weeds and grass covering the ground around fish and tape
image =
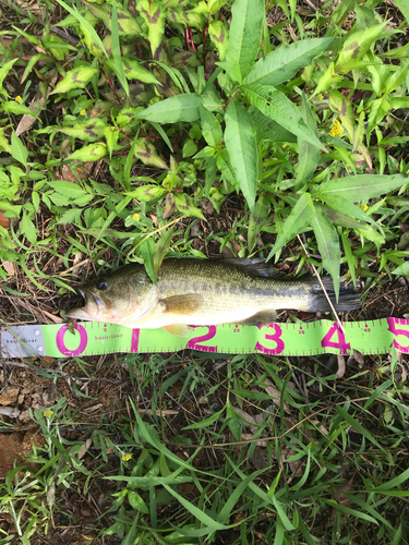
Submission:
[[[58,315],[79,276],[155,278],[165,255],[314,265],[364,305],[408,275],[404,2],[37,5],[0,15],[4,295]],[[51,540],[100,495],[104,543],[408,543],[400,356],[336,380],[327,358],[121,355],[120,390],[82,379],[34,411],[45,445],[0,483],[0,543]]]

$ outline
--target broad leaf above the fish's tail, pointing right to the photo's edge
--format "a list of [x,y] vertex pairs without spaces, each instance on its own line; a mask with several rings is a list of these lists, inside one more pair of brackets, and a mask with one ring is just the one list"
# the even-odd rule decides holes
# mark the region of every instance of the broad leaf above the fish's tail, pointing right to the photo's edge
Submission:
[[[357,174],[347,178],[329,180],[320,186],[317,198],[326,201],[328,197],[342,197],[350,203],[368,201],[384,193],[390,193],[409,179],[404,174],[381,175],[381,174]],[[329,204],[329,202],[328,202]],[[347,211],[347,210],[345,210]],[[359,218],[358,218],[359,219]]]

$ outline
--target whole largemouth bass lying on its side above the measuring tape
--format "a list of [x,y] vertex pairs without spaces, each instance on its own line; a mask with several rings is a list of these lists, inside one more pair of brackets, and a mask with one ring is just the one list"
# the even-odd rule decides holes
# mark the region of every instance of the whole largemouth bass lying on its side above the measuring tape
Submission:
[[[359,294],[345,287],[336,303],[330,279],[324,277],[323,282],[336,311],[361,306]],[[157,286],[143,265],[131,264],[80,291],[85,306],[69,311],[70,318],[161,327],[179,337],[189,336],[189,325],[267,325],[278,308],[330,310],[317,279],[276,280],[263,259],[165,259]]]

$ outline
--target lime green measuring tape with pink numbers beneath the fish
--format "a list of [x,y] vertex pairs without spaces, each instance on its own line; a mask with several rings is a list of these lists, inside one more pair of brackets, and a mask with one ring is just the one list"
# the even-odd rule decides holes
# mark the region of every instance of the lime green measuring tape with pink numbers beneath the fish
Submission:
[[209,353],[268,355],[316,355],[324,353],[383,354],[393,347],[409,353],[409,320],[383,318],[342,323],[322,319],[269,326],[192,326],[190,338],[181,339],[164,329],[129,329],[113,324],[16,326],[0,332],[3,358],[48,355],[72,358],[116,352],[154,353],[193,349]]

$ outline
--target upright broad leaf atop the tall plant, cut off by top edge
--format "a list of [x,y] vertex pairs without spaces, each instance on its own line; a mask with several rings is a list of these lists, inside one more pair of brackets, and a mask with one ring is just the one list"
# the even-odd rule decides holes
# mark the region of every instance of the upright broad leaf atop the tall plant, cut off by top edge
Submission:
[[222,66],[232,80],[241,83],[258,53],[264,0],[236,0],[231,15],[229,47]]

